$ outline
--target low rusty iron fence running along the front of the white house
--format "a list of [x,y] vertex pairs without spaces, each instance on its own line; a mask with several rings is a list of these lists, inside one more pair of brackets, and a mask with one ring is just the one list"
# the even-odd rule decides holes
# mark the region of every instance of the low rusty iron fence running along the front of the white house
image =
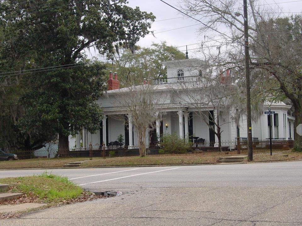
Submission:
[[[275,152],[282,150],[290,150],[294,147],[293,140],[272,140],[272,149]],[[270,150],[269,140],[253,140],[254,153],[262,153]],[[17,158],[12,158],[12,155],[0,155],[0,160],[14,160],[14,159],[65,159],[65,158],[113,158],[122,156],[139,156],[139,147],[99,147],[99,148],[78,148],[78,149],[39,149],[39,150],[14,150],[7,151],[7,154],[15,154]],[[218,143],[195,143],[189,148],[169,148],[161,147],[160,145],[152,145],[146,148],[146,155],[214,155],[214,154],[245,154],[247,153],[247,140],[237,139],[234,141],[222,141]]]

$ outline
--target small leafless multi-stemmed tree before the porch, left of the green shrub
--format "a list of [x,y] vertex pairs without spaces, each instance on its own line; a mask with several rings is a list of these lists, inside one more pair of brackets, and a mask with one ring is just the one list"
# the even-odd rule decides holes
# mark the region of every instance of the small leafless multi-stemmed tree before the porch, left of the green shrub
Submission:
[[116,104],[128,114],[135,127],[141,157],[146,156],[146,132],[154,129],[155,121],[161,117],[159,112],[165,105],[166,95],[158,85],[148,82],[135,86],[128,83],[126,88],[118,89]]

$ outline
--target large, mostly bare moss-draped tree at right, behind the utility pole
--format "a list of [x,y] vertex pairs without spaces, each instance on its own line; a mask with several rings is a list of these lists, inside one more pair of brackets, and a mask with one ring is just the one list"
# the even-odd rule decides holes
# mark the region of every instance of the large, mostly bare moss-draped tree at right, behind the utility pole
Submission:
[[[302,16],[278,15],[271,13],[259,1],[249,0],[248,3],[252,92],[259,99],[274,96],[276,100],[290,100],[295,124],[298,125],[302,122]],[[238,79],[243,80],[244,20],[238,13],[243,11],[242,2],[182,0],[180,7],[193,17],[203,15],[204,23],[199,32],[211,34],[203,35],[205,41],[200,49],[206,59],[213,62],[213,66],[223,66],[240,72]],[[221,30],[222,27],[227,32]],[[211,47],[214,43],[218,43],[218,47]],[[302,151],[302,137],[296,130],[294,137],[294,149]]]

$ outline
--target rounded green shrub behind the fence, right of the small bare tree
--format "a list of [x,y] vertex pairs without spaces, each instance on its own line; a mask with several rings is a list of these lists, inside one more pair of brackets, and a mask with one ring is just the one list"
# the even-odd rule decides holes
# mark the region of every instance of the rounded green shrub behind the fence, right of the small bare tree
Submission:
[[162,150],[164,150],[165,153],[186,153],[193,145],[188,139],[178,137],[176,132],[164,134],[160,140]]

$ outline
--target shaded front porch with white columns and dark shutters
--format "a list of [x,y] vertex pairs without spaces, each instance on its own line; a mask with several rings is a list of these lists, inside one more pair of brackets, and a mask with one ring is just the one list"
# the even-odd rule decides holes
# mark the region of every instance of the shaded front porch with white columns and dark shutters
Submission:
[[[215,114],[215,111],[205,111]],[[82,134],[82,147],[89,148],[90,144],[92,148],[98,148],[103,143],[106,150],[117,149],[113,147],[112,142],[117,141],[117,137],[121,134],[124,138],[122,148],[135,149],[138,147],[138,139],[136,134],[136,128],[132,124],[132,117],[128,114],[117,114],[112,112],[104,112],[103,121],[100,125],[100,130],[91,134],[85,128]],[[197,145],[198,147],[216,147],[218,146],[218,140],[215,133],[205,121],[197,114],[196,111],[188,111],[187,109],[166,109],[157,117],[154,122],[153,129],[146,130],[146,148],[152,148],[160,142],[159,136],[166,133],[176,133],[181,138],[191,139],[194,138],[204,139],[203,144]],[[226,114],[224,121],[229,120],[229,115]],[[230,123],[225,123],[222,126],[224,131],[221,135],[222,142],[232,140],[232,129]],[[79,140],[81,137],[78,135],[77,147],[80,147]],[[116,146],[116,144],[115,144]],[[194,145],[196,147],[196,145]],[[231,148],[231,147],[230,147]]]

